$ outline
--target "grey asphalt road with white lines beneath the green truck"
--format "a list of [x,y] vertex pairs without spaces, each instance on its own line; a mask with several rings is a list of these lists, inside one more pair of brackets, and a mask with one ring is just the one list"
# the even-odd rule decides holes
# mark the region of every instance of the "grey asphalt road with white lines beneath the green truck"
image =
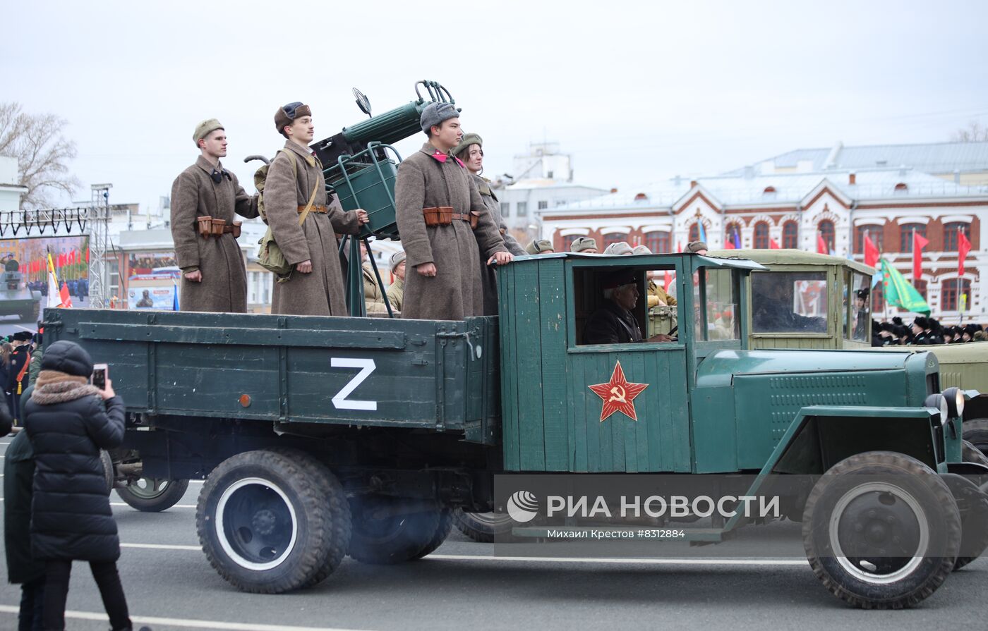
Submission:
[[[0,451],[10,438],[0,439]],[[237,592],[209,567],[196,535],[201,484],[165,513],[138,513],[114,494],[131,617],[162,629],[908,629],[984,628],[988,560],[954,573],[916,609],[862,611],[826,592],[804,561],[529,560],[496,556],[458,531],[421,561],[379,567],[344,561],[311,590]],[[797,537],[782,522],[753,528],[747,545],[773,550]],[[716,547],[707,548],[716,550]],[[107,628],[99,592],[75,564],[68,629]],[[0,577],[0,629],[16,628],[20,591]]]

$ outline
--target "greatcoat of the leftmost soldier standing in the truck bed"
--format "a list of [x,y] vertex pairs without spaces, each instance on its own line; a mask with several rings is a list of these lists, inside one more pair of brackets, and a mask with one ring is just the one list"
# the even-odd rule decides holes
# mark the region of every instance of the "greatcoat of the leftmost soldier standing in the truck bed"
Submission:
[[[222,169],[222,165],[219,166]],[[204,239],[199,236],[196,217],[233,221],[233,213],[251,218],[258,215],[257,196],[249,196],[229,171],[219,184],[212,181],[212,165],[203,156],[172,184],[172,238],[175,258],[183,272],[199,268],[202,282],[182,277],[182,311],[247,311],[247,274],[240,246],[232,234]]]

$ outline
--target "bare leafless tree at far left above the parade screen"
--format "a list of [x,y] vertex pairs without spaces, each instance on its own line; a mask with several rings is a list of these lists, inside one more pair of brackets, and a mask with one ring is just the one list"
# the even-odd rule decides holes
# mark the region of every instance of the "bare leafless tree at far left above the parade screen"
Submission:
[[62,135],[66,123],[52,114],[26,114],[20,103],[0,103],[0,156],[17,158],[18,184],[28,189],[21,207],[50,206],[58,193],[79,188],[68,171],[76,149]]

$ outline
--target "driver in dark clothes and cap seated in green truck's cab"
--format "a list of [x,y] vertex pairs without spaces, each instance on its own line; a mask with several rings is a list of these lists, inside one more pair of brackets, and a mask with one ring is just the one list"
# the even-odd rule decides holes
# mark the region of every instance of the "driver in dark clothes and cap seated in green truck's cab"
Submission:
[[[644,342],[641,329],[631,310],[638,304],[638,280],[626,270],[604,276],[601,284],[604,304],[590,316],[584,329],[586,344],[628,344]],[[665,334],[652,336],[647,342],[673,342]]]

